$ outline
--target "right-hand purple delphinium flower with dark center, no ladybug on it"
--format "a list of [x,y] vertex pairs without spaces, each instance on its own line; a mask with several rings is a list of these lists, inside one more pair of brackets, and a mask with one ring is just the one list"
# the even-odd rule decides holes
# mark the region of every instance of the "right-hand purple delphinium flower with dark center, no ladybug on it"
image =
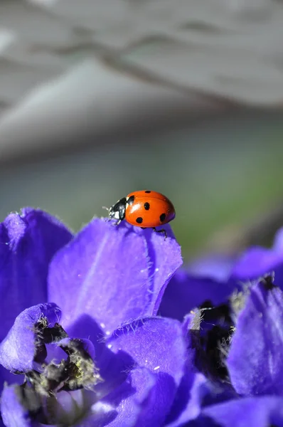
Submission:
[[195,364],[220,389],[236,393],[219,404],[206,396],[186,426],[283,426],[282,289],[283,228],[272,248],[203,258],[173,276],[161,315],[186,322],[198,307],[187,322]]

